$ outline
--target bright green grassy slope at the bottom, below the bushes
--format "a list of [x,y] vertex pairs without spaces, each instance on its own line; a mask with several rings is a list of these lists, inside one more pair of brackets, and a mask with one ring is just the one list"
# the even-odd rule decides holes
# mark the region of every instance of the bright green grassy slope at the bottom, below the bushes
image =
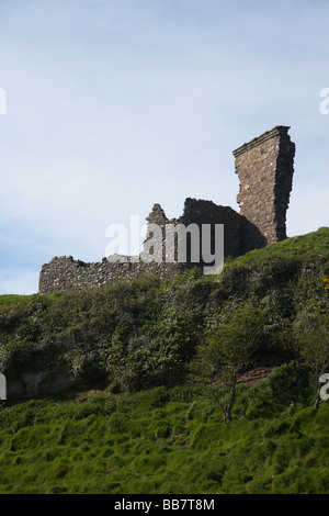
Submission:
[[0,493],[329,493],[329,404],[239,391],[227,426],[192,388],[3,408]]

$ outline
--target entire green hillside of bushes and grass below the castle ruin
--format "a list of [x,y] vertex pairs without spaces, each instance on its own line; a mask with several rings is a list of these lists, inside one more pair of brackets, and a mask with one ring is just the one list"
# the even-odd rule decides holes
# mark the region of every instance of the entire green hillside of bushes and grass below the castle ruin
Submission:
[[[304,341],[318,363],[328,272],[321,228],[228,261],[219,277],[0,296],[9,379],[54,367],[107,379],[86,396],[2,404],[0,493],[329,493],[329,402],[313,408],[317,370]],[[252,327],[252,367],[275,369],[238,385],[224,425],[190,364],[216,336],[243,336],[256,310],[264,324]]]

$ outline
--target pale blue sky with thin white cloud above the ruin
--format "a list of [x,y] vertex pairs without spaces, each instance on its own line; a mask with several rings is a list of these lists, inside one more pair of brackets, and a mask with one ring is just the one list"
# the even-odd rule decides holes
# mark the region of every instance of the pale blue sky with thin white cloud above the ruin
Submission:
[[328,20],[329,0],[0,0],[0,294],[100,261],[155,203],[239,211],[232,150],[276,125],[287,235],[328,226]]

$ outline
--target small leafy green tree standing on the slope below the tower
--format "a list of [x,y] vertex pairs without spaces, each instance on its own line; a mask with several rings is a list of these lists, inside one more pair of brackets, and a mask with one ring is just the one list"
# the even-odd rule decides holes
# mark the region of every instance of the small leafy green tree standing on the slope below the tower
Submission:
[[264,338],[265,323],[263,311],[250,305],[226,314],[191,363],[190,379],[208,390],[225,424],[231,420],[238,378],[251,367]]

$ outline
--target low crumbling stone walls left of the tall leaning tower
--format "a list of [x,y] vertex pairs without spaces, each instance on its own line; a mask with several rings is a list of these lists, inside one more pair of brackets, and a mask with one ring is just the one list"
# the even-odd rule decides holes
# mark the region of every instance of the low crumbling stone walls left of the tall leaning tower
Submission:
[[[196,218],[197,217],[197,218]],[[139,257],[125,257],[125,262],[112,262],[103,258],[101,262],[86,263],[73,260],[71,256],[55,257],[49,263],[42,267],[38,291],[42,294],[53,292],[72,292],[82,289],[101,288],[118,281],[132,281],[149,274],[161,279],[173,279],[190,267],[203,267],[202,257],[197,262],[190,259],[188,246],[188,261],[184,263],[168,262],[166,260],[166,226],[168,224],[225,224],[226,256],[241,254],[241,217],[230,207],[216,206],[211,201],[186,199],[184,212],[181,217],[169,221],[159,204],[155,204],[147,217],[148,224],[157,224],[162,229],[162,262],[146,263]],[[213,236],[213,235],[212,235]]]

